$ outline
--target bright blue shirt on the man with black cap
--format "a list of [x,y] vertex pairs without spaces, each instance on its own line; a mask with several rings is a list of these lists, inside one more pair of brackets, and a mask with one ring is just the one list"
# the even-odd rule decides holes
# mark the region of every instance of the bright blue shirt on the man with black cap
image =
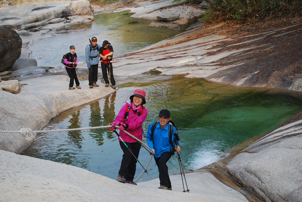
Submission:
[[[175,147],[174,134],[172,134],[172,144],[173,144],[172,145],[170,143],[170,138],[169,138],[169,123],[163,129],[161,129],[160,124],[157,123],[153,133],[153,140],[150,140],[151,133],[152,133],[151,128],[153,126],[153,123],[151,123],[148,127],[146,139],[147,139],[148,146],[151,149],[155,150],[154,156],[158,158],[162,155],[163,152],[171,151],[172,146]],[[177,133],[177,130],[174,126],[173,126],[173,133]],[[179,146],[179,141],[177,141],[177,145]]]

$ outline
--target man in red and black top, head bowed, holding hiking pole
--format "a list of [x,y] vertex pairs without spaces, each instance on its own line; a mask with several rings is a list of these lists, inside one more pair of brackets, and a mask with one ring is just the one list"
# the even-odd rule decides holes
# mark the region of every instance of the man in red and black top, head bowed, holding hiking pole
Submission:
[[103,79],[106,83],[105,87],[109,86],[109,80],[107,76],[107,69],[108,69],[108,72],[110,71],[110,80],[111,80],[112,88],[116,89],[115,80],[112,71],[112,63],[111,63],[112,55],[113,55],[113,47],[109,44],[107,40],[104,40],[102,47],[99,50],[99,53],[101,57],[100,60],[101,60]]

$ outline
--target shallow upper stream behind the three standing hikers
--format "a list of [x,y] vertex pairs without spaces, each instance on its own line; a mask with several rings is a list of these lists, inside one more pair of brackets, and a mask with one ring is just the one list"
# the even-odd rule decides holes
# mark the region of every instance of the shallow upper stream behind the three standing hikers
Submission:
[[[51,37],[34,42],[28,47],[31,57],[37,60],[38,66],[61,67],[61,59],[69,52],[69,46],[76,46],[78,64],[85,63],[85,47],[92,37],[98,38],[102,45],[108,40],[113,46],[114,55],[138,50],[153,43],[180,34],[174,29],[148,27],[152,21],[130,18],[133,13],[127,11],[99,14],[92,23],[80,24],[68,30],[58,31]],[[65,71],[65,70],[64,70]]]

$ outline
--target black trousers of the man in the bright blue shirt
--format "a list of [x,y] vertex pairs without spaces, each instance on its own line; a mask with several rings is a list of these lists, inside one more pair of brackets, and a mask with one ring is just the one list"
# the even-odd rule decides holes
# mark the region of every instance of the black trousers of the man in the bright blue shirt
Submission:
[[168,188],[172,188],[171,181],[168,174],[168,166],[167,162],[172,156],[172,152],[163,152],[160,157],[155,157],[154,160],[156,162],[156,165],[158,167],[159,171],[159,181],[160,185],[164,185]]

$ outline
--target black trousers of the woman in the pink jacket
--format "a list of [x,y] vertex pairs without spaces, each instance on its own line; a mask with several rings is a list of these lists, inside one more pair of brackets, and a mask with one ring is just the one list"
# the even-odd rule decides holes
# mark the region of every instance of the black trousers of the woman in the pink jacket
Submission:
[[136,172],[136,163],[137,163],[137,160],[134,158],[134,156],[138,159],[138,155],[140,153],[140,143],[125,142],[128,148],[134,154],[133,156],[129,151],[129,149],[124,145],[124,143],[122,141],[119,142],[120,142],[120,148],[123,150],[124,154],[118,174],[124,176],[125,179],[128,181],[133,181]]

